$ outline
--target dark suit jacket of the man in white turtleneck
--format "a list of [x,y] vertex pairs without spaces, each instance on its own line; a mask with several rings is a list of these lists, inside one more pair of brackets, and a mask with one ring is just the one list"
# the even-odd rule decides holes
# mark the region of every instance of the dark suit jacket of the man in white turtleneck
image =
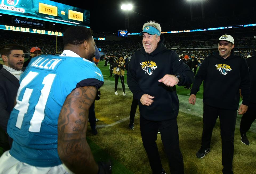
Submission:
[[7,132],[7,123],[14,107],[19,80],[5,68],[0,70],[0,126]]

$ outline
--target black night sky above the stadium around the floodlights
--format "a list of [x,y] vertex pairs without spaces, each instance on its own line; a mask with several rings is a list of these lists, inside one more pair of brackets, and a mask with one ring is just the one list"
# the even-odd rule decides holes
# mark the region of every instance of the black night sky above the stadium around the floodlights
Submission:
[[[170,23],[178,20],[190,21],[190,6],[188,0],[94,0],[83,2],[70,0],[54,1],[90,10],[90,27],[94,31],[117,32],[118,29],[125,29],[125,14],[124,11],[121,10],[121,4],[124,2],[130,2],[134,6],[134,12],[129,12],[130,26],[138,24],[142,27],[143,23],[149,20],[155,20],[160,24],[168,21],[170,21]],[[254,10],[255,13],[256,6],[254,0],[202,1],[204,1],[203,6],[205,18],[247,14],[252,10]],[[193,13],[196,17],[201,15],[201,3],[194,3]]]

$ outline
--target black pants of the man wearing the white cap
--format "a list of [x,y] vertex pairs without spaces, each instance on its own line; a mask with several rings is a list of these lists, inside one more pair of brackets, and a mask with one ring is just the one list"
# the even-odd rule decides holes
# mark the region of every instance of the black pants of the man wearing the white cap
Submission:
[[203,105],[202,147],[210,148],[211,136],[219,116],[222,141],[222,172],[233,174],[234,132],[237,110],[226,110]]

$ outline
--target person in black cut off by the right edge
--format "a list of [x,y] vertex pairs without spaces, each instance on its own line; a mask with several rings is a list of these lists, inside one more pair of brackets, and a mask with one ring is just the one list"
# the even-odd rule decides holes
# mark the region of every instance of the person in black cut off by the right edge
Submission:
[[249,140],[247,139],[246,132],[250,129],[251,124],[256,119],[255,108],[256,108],[256,69],[254,68],[256,64],[256,51],[253,51],[251,57],[246,59],[248,64],[248,69],[250,72],[250,79],[251,79],[251,101],[248,105],[248,110],[245,114],[243,114],[241,123],[240,123],[240,133],[241,133],[241,141],[242,143],[249,145]]

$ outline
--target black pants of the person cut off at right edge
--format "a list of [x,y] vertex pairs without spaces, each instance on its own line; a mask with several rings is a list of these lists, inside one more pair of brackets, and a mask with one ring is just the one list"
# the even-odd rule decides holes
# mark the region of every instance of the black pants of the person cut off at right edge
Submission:
[[248,106],[248,110],[243,114],[241,123],[240,123],[240,132],[246,134],[246,132],[250,129],[251,124],[256,119],[256,103],[250,103]]

